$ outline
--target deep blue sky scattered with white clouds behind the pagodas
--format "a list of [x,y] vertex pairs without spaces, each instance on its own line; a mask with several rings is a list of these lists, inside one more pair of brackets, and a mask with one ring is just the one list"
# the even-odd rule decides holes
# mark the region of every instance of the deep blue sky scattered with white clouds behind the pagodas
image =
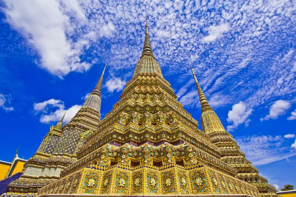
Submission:
[[227,131],[271,184],[296,185],[295,0],[0,0],[0,160],[29,159],[108,64],[102,117],[144,43],[198,121],[191,65]]

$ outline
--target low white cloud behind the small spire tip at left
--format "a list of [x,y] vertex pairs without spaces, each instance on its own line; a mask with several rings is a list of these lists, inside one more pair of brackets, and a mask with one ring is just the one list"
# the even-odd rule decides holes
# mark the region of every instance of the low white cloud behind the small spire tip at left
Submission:
[[58,122],[61,120],[65,112],[64,123],[67,123],[74,117],[81,107],[81,105],[73,105],[72,107],[65,109],[64,102],[56,99],[34,103],[34,110],[36,113],[41,113],[41,123]]

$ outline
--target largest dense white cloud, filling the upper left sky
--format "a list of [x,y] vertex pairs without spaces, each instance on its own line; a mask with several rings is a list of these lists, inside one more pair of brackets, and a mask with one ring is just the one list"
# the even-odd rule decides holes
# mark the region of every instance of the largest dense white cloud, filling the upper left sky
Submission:
[[[91,64],[83,62],[80,55],[96,37],[110,37],[115,29],[111,22],[98,23],[95,28],[83,27],[88,19],[77,0],[4,2],[7,22],[37,50],[39,66],[61,78],[71,71],[88,70]],[[100,29],[98,33],[96,28]]]

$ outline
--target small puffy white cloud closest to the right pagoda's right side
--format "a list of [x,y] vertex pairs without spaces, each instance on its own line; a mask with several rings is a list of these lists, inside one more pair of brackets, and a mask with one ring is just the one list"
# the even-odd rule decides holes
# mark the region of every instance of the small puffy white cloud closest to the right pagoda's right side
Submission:
[[232,106],[232,109],[228,112],[227,122],[232,123],[232,125],[227,126],[227,131],[233,131],[240,124],[245,123],[247,127],[251,121],[249,116],[252,114],[253,109],[247,109],[246,104],[242,101],[236,103]]

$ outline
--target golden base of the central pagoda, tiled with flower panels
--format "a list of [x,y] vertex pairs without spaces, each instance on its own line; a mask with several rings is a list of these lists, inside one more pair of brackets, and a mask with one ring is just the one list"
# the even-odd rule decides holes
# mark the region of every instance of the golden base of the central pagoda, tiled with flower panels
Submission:
[[[125,196],[233,195],[259,197],[256,187],[201,164],[84,167],[38,190],[47,194]],[[230,196],[229,196],[230,195]],[[225,197],[226,197],[225,196]],[[233,196],[234,197],[234,196]]]

